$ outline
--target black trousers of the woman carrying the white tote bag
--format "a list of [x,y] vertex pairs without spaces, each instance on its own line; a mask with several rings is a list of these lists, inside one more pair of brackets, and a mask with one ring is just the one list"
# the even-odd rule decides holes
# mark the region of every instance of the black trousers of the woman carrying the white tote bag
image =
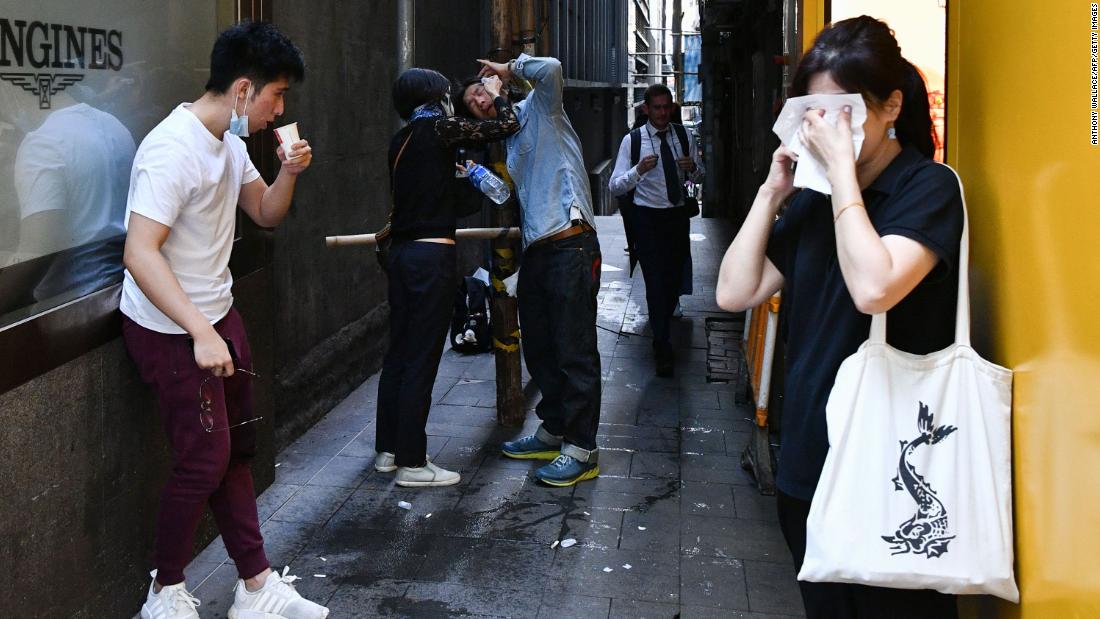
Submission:
[[[802,570],[806,556],[806,517],[810,501],[777,493],[779,526]],[[806,619],[956,619],[955,596],[931,589],[890,589],[845,583],[799,581]]]

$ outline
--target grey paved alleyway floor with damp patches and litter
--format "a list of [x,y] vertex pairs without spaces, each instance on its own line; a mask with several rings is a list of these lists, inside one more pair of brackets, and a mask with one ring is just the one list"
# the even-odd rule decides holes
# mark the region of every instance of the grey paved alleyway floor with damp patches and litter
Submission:
[[[706,382],[704,321],[726,316],[714,285],[728,226],[692,222],[695,294],[682,299],[676,376],[658,378],[641,272],[627,275],[622,220],[600,220],[602,475],[575,488],[532,483],[541,463],[499,455],[520,431],[496,424],[493,356],[448,350],[429,453],[462,483],[398,488],[372,466],[371,377],[279,454],[258,500],[273,565],[290,565],[333,618],[802,615],[774,499],[739,465],[750,407],[734,385]],[[522,431],[537,424],[528,412]],[[575,545],[554,544],[568,539]],[[220,539],[193,562],[204,617],[224,617],[235,575]]]

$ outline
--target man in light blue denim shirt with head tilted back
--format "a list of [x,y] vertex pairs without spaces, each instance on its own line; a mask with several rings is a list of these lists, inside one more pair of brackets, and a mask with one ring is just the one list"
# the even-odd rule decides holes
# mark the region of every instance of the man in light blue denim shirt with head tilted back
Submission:
[[[508,441],[508,457],[551,460],[535,476],[571,486],[600,474],[600,352],[596,295],[601,254],[592,190],[581,142],[562,107],[561,63],[521,54],[508,63],[482,63],[482,76],[513,76],[535,84],[515,106],[520,130],[507,139],[508,174],[516,184],[524,232],[519,321],[524,358],[542,393],[538,431]],[[490,119],[493,100],[479,82],[462,92],[470,114]]]

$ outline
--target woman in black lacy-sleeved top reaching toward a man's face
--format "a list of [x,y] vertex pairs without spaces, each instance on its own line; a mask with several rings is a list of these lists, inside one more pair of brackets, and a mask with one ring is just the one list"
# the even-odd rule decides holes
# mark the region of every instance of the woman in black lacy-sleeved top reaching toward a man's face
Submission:
[[454,308],[454,228],[476,212],[481,194],[457,178],[455,150],[496,142],[519,131],[501,80],[490,80],[497,118],[453,115],[450,82],[411,68],[394,82],[394,108],[408,123],[389,143],[394,210],[389,276],[389,352],[378,384],[376,471],[397,471],[398,486],[450,486],[459,474],[428,461],[425,427],[431,388]]

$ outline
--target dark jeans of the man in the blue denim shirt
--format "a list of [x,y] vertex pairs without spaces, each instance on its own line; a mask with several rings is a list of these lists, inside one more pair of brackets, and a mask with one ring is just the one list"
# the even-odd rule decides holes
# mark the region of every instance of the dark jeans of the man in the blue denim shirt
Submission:
[[536,413],[547,432],[586,451],[600,425],[601,259],[600,240],[584,232],[529,246],[519,269],[524,360],[542,393]]

